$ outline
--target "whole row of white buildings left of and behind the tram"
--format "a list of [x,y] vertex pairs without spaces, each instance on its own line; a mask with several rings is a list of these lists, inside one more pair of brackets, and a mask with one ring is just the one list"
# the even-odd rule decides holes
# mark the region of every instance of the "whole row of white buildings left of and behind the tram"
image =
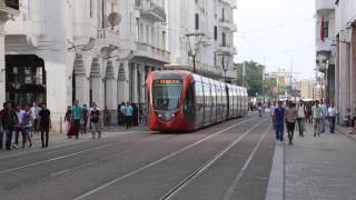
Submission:
[[121,102],[142,108],[150,71],[175,64],[192,68],[188,33],[204,33],[196,57],[198,72],[222,79],[225,66],[227,77],[236,77],[234,0],[19,0],[18,4],[20,14],[3,27],[1,100],[47,102],[55,130],[61,129],[66,109],[75,100],[106,109],[108,123],[117,123]]

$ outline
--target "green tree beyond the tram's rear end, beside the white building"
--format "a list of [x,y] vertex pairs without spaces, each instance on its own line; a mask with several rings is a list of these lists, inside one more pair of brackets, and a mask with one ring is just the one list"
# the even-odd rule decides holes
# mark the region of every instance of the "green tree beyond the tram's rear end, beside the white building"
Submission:
[[243,63],[235,64],[234,69],[237,71],[236,83],[238,86],[245,86],[249,97],[256,97],[256,94],[258,96],[263,93],[265,66],[255,61],[245,61]]

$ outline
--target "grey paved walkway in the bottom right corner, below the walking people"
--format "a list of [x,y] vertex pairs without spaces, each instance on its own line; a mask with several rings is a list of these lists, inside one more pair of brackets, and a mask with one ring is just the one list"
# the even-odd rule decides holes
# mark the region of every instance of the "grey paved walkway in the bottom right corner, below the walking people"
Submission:
[[285,200],[355,200],[356,141],[308,130],[285,144]]

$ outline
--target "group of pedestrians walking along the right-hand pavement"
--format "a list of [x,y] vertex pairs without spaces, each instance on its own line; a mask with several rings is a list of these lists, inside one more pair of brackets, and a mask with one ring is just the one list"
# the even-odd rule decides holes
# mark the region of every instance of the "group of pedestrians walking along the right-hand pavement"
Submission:
[[335,122],[338,110],[334,102],[332,102],[329,107],[318,100],[307,103],[300,100],[298,104],[293,101],[279,101],[278,106],[276,104],[277,103],[274,102],[270,107],[270,117],[276,131],[277,142],[285,141],[284,129],[286,127],[288,143],[293,144],[296,128],[299,130],[299,137],[304,137],[306,130],[305,123],[307,122],[313,123],[314,137],[320,137],[320,133],[326,132],[327,121],[329,121],[330,133],[335,133]]

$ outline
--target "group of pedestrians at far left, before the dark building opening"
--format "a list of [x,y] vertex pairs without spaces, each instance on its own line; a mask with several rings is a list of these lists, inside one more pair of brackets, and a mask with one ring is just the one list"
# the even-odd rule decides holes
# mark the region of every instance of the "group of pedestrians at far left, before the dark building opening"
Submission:
[[4,102],[0,111],[0,149],[18,149],[20,136],[22,149],[31,148],[32,136],[39,132],[42,148],[48,148],[50,128],[50,110],[46,103],[13,106],[11,102]]

